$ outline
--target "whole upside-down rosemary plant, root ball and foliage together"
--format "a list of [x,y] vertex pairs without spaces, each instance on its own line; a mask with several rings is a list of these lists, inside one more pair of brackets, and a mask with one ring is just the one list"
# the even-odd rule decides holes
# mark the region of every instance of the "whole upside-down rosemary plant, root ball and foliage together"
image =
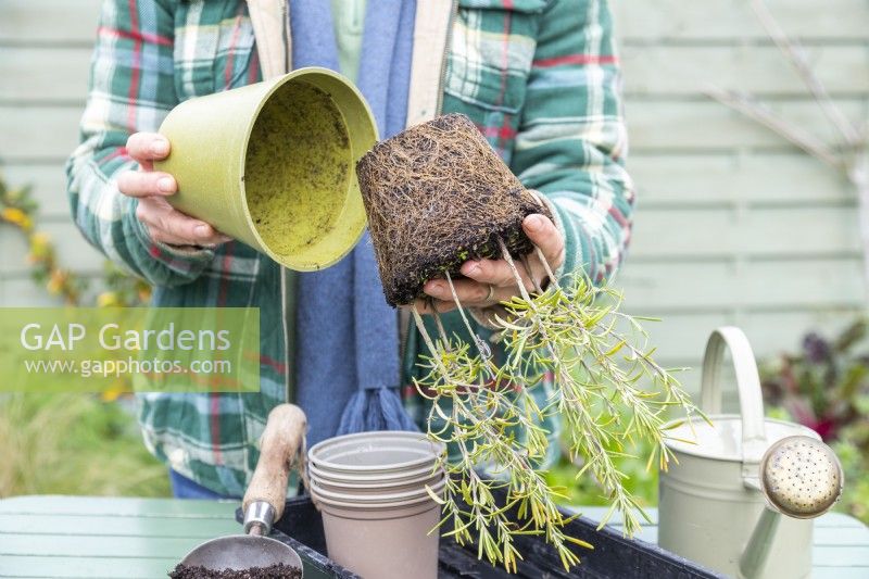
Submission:
[[[555,417],[565,425],[568,453],[582,462],[576,476],[593,476],[607,498],[602,525],[618,512],[625,532],[635,532],[640,505],[617,461],[639,440],[651,446],[643,462],[666,468],[669,411],[696,412],[655,363],[638,318],[619,311],[615,291],[581,274],[558,279],[521,227],[527,215],[552,212],[467,117],[445,115],[406,129],[377,144],[357,173],[387,301],[411,304],[426,281],[443,277],[468,331],[466,338],[448,336],[431,309],[438,328],[432,336],[412,306],[429,352],[427,374],[416,381],[430,403],[428,436],[458,455],[443,465],[452,475],[444,496],[432,495],[443,504],[445,534],[459,543],[476,540],[480,558],[507,569],[521,558],[514,545],[518,534],[542,536],[565,568],[579,562],[570,544],[591,545],[563,532],[561,490],[536,468],[551,454],[541,425]],[[529,256],[545,269],[545,288],[525,275]],[[503,363],[475,332],[455,290],[462,264],[481,257],[503,259],[520,291],[477,314],[496,329]],[[540,404],[531,392],[546,375],[554,388]],[[479,465],[488,465],[487,476],[476,470]]]

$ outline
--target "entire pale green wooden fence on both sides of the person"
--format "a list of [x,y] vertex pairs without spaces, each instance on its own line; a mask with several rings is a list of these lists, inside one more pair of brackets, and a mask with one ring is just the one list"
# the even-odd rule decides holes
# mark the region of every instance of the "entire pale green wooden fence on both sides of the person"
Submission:
[[[852,118],[869,105],[869,1],[769,0]],[[640,190],[628,307],[665,318],[659,355],[696,366],[708,331],[742,326],[758,354],[864,306],[856,202],[819,162],[702,95],[750,90],[829,140],[818,108],[745,0],[617,0],[630,168]],[[77,140],[99,0],[0,0],[0,162],[30,182],[70,266],[101,257],[73,227],[63,162]],[[47,303],[0,228],[0,304]],[[689,383],[696,382],[696,372]]]

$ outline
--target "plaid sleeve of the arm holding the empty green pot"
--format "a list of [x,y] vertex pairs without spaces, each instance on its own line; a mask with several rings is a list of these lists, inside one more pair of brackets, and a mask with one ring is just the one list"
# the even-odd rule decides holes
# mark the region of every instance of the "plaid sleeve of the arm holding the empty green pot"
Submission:
[[104,0],[80,123],[80,144],[66,164],[73,219],[112,262],[158,286],[194,280],[214,257],[209,249],[154,241],[136,217],[138,200],[116,176],[136,169],[125,149],[137,131],[156,131],[177,104],[174,9],[160,0]]

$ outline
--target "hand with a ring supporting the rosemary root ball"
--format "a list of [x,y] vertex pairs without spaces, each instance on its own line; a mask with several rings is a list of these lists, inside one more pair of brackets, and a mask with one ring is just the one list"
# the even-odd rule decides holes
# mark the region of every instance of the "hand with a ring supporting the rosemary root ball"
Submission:
[[[553,270],[562,265],[564,238],[549,217],[537,213],[531,214],[522,222],[522,229],[531,242],[543,252]],[[537,285],[545,286],[547,275],[537,252],[531,252],[527,262],[530,272],[526,270],[519,260],[514,263],[521,275],[525,288],[532,292],[534,291],[534,281]],[[453,279],[453,286],[463,306],[488,307],[520,293],[516,277],[504,260],[467,261],[462,265],[461,272],[466,279]],[[429,304],[429,300],[417,300],[415,305],[420,313],[430,312],[431,305],[438,312],[449,312],[455,309],[453,293],[445,279],[427,281],[423,291],[433,298],[433,303]]]

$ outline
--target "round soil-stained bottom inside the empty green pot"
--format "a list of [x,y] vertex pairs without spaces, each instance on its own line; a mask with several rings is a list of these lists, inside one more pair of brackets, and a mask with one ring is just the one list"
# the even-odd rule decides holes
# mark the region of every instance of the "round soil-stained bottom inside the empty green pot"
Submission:
[[251,133],[244,188],[273,252],[298,255],[335,226],[351,161],[343,118],[326,92],[290,83],[266,102]]

